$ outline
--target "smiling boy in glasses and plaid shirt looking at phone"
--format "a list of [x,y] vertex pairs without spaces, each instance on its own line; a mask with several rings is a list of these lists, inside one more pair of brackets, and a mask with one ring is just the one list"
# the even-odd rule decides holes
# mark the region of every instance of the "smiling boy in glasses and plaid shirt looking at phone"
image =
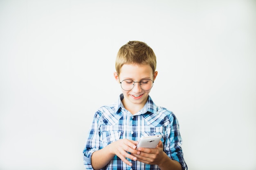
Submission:
[[[175,115],[149,96],[157,77],[156,57],[144,42],[119,49],[114,77],[122,94],[117,104],[94,115],[84,154],[86,169],[184,170],[182,139]],[[157,148],[136,148],[143,136],[162,135]]]

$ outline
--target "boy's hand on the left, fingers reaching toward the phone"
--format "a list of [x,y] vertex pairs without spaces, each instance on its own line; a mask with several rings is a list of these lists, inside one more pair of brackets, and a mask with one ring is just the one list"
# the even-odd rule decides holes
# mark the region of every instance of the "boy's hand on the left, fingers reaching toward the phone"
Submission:
[[110,153],[112,153],[114,156],[117,155],[124,163],[132,166],[132,163],[129,162],[126,158],[132,159],[134,161],[137,160],[137,157],[129,154],[140,154],[140,151],[136,150],[137,143],[137,141],[129,139],[119,139],[118,141],[109,144]]

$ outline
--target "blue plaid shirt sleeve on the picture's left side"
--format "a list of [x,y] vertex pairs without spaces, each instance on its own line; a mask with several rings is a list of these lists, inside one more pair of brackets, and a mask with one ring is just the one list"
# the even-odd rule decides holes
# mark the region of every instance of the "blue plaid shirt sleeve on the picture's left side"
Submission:
[[100,142],[100,132],[99,132],[100,117],[101,117],[101,113],[97,111],[94,115],[92,126],[88,133],[87,142],[85,143],[85,147],[83,149],[83,162],[84,162],[85,169],[88,169],[88,170],[93,170],[92,153],[102,148],[101,142]]

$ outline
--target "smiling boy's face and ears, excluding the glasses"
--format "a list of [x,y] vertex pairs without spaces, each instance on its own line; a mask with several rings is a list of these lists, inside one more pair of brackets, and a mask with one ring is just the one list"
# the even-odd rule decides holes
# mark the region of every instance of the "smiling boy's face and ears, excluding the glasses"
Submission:
[[[150,65],[141,64],[124,64],[121,67],[119,75],[114,73],[116,81],[120,84],[123,80],[130,79],[135,82],[140,82],[144,79],[155,80],[157,71],[153,74]],[[133,88],[129,91],[122,89],[124,99],[122,100],[125,107],[144,107],[150,90],[141,89],[139,83],[135,83]],[[128,109],[128,108],[126,108]]]

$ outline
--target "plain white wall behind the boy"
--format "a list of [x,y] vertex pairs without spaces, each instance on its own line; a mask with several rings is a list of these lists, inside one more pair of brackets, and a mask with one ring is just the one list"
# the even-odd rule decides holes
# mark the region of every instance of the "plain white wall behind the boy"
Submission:
[[146,42],[151,97],[180,122],[190,170],[256,169],[256,2],[1,0],[0,169],[83,170],[115,56]]

